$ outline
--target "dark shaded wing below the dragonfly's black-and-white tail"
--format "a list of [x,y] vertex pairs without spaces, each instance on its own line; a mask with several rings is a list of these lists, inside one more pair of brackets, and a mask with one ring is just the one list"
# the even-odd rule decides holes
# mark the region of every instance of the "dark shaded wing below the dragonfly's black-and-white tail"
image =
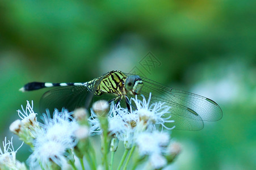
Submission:
[[64,107],[69,111],[75,108],[85,107],[86,97],[89,90],[86,86],[66,86],[58,87],[45,92],[40,99],[40,112],[49,109],[52,113],[54,108],[59,111]]

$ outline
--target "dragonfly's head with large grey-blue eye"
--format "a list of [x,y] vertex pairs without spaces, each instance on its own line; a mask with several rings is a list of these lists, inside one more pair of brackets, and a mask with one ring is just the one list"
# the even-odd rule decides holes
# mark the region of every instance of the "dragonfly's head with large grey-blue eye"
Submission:
[[125,90],[131,95],[140,94],[143,82],[139,75],[130,75],[125,80]]

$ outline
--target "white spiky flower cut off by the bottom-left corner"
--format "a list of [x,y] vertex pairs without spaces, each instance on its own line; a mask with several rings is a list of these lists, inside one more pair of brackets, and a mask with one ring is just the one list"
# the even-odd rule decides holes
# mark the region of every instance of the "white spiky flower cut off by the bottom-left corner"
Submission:
[[[22,147],[22,145],[20,147]],[[24,163],[20,163],[16,160],[16,152],[19,148],[15,151],[12,145],[12,138],[11,141],[7,142],[5,137],[5,141],[3,141],[3,150],[0,148],[0,169],[26,169]]]

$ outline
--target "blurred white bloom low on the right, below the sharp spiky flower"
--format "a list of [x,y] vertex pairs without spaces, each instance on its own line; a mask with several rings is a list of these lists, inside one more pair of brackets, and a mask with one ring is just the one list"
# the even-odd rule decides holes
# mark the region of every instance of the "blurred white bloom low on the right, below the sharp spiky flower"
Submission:
[[136,144],[140,155],[161,154],[169,143],[169,134],[160,131],[144,131],[137,135]]

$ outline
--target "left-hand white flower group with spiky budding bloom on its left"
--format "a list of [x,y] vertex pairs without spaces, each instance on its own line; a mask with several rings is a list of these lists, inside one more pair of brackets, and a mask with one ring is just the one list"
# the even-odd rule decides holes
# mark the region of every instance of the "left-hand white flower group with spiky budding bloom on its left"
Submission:
[[36,169],[40,165],[51,169],[54,164],[66,165],[69,160],[67,152],[77,144],[75,134],[79,127],[71,113],[56,109],[52,118],[49,112],[43,114],[43,123],[40,123],[33,111],[33,101],[32,105],[27,101],[26,109],[22,107],[22,111],[18,110],[22,121],[14,121],[10,130],[31,146],[30,168]]

